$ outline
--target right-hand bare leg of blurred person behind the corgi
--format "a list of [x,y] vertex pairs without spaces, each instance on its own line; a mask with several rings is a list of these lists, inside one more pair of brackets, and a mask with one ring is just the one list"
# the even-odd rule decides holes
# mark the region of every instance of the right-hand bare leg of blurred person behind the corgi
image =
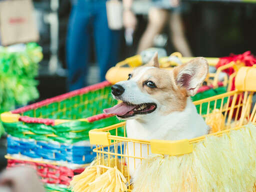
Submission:
[[184,34],[182,18],[179,12],[170,12],[169,27],[171,31],[171,40],[175,49],[183,56],[192,56],[191,49]]

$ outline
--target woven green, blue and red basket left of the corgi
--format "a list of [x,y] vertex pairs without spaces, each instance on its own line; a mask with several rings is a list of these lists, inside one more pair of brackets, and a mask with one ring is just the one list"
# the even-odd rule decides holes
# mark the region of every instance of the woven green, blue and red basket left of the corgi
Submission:
[[31,165],[48,191],[69,191],[73,175],[95,153],[88,131],[117,122],[102,109],[116,101],[104,81],[1,114],[7,132],[8,167]]

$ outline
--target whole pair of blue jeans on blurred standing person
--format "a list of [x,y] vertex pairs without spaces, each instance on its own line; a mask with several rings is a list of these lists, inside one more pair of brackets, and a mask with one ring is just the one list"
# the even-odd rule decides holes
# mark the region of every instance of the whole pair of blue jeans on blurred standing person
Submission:
[[121,31],[108,28],[105,3],[105,0],[73,2],[66,46],[69,91],[85,86],[92,47],[96,48],[101,81],[105,79],[106,71],[117,62]]

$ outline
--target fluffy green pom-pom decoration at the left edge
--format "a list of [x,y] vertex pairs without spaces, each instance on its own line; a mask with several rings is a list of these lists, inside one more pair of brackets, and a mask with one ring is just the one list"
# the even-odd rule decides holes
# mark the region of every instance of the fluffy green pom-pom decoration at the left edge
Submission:
[[[22,50],[0,46],[0,113],[39,97],[37,91],[38,62],[42,48],[34,42]],[[0,123],[0,134],[4,132]]]

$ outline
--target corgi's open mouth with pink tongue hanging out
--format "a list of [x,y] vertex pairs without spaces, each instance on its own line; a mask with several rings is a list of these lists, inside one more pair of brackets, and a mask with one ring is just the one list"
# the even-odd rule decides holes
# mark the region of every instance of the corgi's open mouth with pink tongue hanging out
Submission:
[[116,114],[118,117],[127,118],[135,114],[147,114],[153,112],[155,109],[156,104],[153,102],[141,104],[121,102],[111,108],[105,108],[103,111],[105,114]]

